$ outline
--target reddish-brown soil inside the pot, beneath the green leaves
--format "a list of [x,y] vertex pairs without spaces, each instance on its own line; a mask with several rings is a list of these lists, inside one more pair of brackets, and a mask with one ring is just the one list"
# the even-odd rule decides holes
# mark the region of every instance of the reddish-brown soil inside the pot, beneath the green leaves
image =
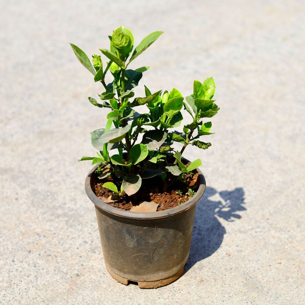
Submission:
[[113,195],[107,188],[103,188],[105,182],[113,182],[120,189],[122,181],[116,180],[108,176],[105,179],[100,179],[95,185],[95,195],[102,199],[110,206],[114,206],[121,210],[129,211],[133,206],[139,205],[142,201],[153,201],[158,203],[157,211],[171,209],[182,203],[185,203],[191,196],[188,194],[188,189],[194,189],[196,192],[198,185],[196,183],[198,173],[188,172],[183,175],[183,179],[172,177],[169,180],[167,190],[163,192],[163,180],[160,176],[155,176],[149,179],[142,180],[141,189],[132,196],[127,196],[125,193],[122,197]]

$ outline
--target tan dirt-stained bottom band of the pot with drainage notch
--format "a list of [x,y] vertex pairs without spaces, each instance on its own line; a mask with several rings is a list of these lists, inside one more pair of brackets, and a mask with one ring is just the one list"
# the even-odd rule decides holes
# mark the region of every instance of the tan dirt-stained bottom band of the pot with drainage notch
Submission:
[[109,272],[109,274],[116,280],[118,281],[119,283],[121,284],[124,284],[124,285],[128,285],[129,282],[136,282],[138,283],[138,286],[140,288],[158,288],[158,287],[162,287],[162,286],[165,286],[165,285],[168,285],[174,281],[176,281],[177,278],[179,278],[181,276],[181,274],[183,273],[183,269],[182,268],[181,270],[179,270],[176,274],[170,276],[169,278],[164,278],[162,280],[159,280],[159,281],[134,281],[132,279],[128,279],[128,278],[123,278],[122,276],[114,273],[109,267],[108,265],[106,264],[106,268]]

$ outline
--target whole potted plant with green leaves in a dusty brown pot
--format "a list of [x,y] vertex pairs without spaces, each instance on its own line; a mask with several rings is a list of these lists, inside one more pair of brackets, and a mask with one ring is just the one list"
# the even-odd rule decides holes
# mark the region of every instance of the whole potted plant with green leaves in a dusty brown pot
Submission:
[[[141,288],[169,284],[183,273],[205,180],[198,169],[201,160],[189,162],[182,154],[188,145],[211,146],[199,140],[212,134],[211,122],[203,118],[211,118],[219,110],[213,99],[212,77],[203,83],[194,81],[186,102],[175,88],[162,92],[144,86],[145,96],[134,97],[133,88],[149,67],[127,67],[162,33],[149,34],[134,48],[131,31],[117,28],[109,36],[110,49],[100,49],[106,64],[101,55],[93,55],[91,64],[71,44],[77,59],[103,86],[99,99],[89,97],[89,102],[109,110],[106,126],[91,132],[97,156],[78,160],[92,160],[95,165],[85,189],[95,204],[106,267],[117,281],[135,281]],[[106,74],[112,77],[109,84]],[[143,105],[146,111],[137,112]],[[178,132],[175,128],[182,124],[182,108],[192,123]],[[182,148],[175,150],[174,142]]]

